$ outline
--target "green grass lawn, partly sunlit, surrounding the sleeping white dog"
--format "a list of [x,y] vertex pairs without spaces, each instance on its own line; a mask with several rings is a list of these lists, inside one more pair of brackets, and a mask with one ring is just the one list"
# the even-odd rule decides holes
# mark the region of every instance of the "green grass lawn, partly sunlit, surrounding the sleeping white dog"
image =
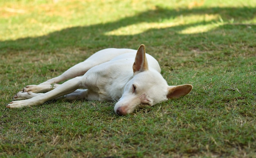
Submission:
[[[1,157],[255,157],[253,0],[3,0],[0,23]],[[193,91],[124,117],[113,102],[5,108],[95,51],[141,43]]]

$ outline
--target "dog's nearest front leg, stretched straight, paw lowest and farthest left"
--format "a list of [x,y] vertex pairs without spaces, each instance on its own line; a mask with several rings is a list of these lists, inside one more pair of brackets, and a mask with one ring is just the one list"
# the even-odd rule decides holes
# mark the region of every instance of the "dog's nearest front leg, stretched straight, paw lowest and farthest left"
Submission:
[[84,84],[82,78],[83,77],[76,77],[68,80],[67,82],[64,82],[62,85],[58,86],[56,89],[53,89],[52,91],[48,91],[47,93],[43,93],[30,99],[12,101],[6,107],[20,108],[26,106],[41,105],[46,101],[53,100],[55,98],[72,93],[76,89],[83,88],[82,85]]

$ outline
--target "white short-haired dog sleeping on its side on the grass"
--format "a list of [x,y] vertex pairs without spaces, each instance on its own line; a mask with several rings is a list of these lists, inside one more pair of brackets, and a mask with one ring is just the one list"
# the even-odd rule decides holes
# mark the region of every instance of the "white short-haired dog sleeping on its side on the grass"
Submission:
[[[6,107],[41,105],[56,98],[112,100],[116,102],[115,113],[123,116],[137,108],[185,96],[192,90],[190,84],[168,86],[160,71],[157,60],[146,53],[145,45],[138,50],[103,49],[56,78],[26,86]],[[67,81],[57,84],[63,80]]]

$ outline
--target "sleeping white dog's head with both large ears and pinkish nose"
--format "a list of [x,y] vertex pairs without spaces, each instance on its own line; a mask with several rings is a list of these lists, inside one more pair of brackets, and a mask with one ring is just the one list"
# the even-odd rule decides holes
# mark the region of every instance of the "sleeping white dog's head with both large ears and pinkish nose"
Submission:
[[132,113],[138,107],[153,106],[164,100],[185,96],[192,89],[190,84],[168,86],[158,71],[149,70],[144,45],[139,47],[132,69],[134,76],[115,105],[115,112],[120,116]]

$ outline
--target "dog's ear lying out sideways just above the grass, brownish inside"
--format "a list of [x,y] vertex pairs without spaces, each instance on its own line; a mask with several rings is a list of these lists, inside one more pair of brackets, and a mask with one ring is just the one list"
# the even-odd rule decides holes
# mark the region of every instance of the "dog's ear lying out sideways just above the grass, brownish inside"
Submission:
[[178,85],[178,86],[169,86],[168,87],[167,98],[168,99],[175,99],[175,98],[179,98],[181,96],[185,96],[192,90],[192,88],[193,88],[193,86],[190,85],[190,84]]

